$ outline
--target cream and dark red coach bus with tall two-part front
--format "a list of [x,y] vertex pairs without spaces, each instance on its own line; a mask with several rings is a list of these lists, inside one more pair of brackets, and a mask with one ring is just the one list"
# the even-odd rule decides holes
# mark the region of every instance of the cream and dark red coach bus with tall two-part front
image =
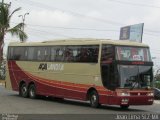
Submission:
[[149,46],[120,40],[73,39],[10,43],[6,88],[101,104],[152,105]]

